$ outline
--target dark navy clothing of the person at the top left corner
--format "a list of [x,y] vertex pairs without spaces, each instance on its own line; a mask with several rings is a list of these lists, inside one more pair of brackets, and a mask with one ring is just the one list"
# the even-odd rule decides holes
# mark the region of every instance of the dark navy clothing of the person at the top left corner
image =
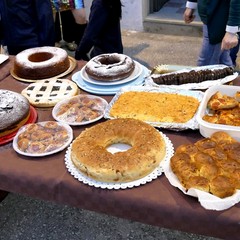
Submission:
[[9,54],[54,46],[54,19],[49,0],[1,0],[1,29]]

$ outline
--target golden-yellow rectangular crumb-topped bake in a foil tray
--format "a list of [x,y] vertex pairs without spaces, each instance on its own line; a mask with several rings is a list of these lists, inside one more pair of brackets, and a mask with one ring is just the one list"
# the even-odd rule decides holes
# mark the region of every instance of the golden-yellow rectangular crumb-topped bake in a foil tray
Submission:
[[114,118],[135,118],[142,121],[186,123],[199,106],[197,98],[159,92],[124,92],[110,109]]

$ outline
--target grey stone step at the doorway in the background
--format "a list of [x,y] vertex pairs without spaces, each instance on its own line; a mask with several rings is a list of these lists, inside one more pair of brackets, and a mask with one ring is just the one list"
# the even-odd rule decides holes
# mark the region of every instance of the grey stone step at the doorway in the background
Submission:
[[161,19],[148,16],[143,22],[146,32],[176,36],[202,37],[202,23],[200,21],[185,24],[182,20]]

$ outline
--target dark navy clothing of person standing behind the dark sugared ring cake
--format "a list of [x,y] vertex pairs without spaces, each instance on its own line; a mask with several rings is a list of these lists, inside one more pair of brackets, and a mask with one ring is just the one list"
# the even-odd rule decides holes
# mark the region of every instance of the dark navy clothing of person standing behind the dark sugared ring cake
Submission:
[[75,53],[77,60],[89,60],[87,54],[92,48],[91,57],[103,53],[123,53],[120,16],[114,15],[106,2],[92,2],[88,25]]

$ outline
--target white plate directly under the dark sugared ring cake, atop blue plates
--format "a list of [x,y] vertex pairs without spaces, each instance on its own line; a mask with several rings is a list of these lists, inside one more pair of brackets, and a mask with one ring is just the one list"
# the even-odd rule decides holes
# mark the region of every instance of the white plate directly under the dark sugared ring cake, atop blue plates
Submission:
[[97,81],[94,80],[93,78],[89,77],[88,74],[85,71],[85,67],[84,66],[80,73],[81,73],[81,77],[84,81],[88,82],[88,83],[92,83],[92,84],[96,84],[96,85],[107,85],[107,86],[111,86],[111,85],[118,85],[118,84],[123,84],[123,83],[127,83],[127,82],[131,82],[132,80],[138,78],[140,76],[140,74],[142,73],[142,65],[136,61],[135,62],[135,69],[134,71],[131,73],[131,75],[127,78],[118,80],[118,81],[108,81],[108,82],[104,82],[104,81]]

